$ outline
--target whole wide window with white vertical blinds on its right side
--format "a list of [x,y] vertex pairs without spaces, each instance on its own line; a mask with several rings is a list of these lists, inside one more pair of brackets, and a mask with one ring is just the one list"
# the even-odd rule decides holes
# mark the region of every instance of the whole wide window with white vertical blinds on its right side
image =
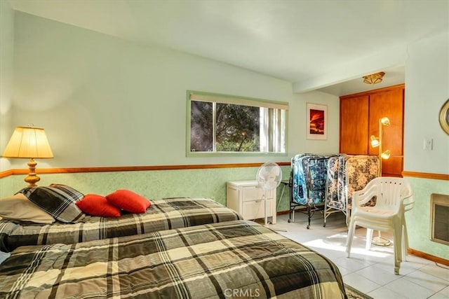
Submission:
[[187,91],[187,155],[286,153],[288,104]]

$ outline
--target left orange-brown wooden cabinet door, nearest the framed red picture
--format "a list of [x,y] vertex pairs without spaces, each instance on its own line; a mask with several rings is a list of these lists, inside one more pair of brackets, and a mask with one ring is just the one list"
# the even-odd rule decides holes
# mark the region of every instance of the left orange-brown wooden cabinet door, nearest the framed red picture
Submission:
[[368,95],[340,98],[340,153],[368,154]]

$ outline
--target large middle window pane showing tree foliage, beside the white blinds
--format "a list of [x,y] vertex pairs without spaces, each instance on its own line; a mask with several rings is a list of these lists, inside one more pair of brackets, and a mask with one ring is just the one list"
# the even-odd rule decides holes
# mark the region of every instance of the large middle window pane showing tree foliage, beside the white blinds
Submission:
[[217,103],[216,150],[260,151],[260,108]]

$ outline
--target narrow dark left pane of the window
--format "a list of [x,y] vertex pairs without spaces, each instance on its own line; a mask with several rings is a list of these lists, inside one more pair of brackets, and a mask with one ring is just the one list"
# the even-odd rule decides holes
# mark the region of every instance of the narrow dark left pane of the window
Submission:
[[190,151],[213,151],[213,103],[190,103]]

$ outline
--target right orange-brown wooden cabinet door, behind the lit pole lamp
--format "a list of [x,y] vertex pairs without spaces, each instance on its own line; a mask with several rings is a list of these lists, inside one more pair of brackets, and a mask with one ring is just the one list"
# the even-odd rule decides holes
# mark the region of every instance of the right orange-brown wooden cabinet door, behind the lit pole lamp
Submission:
[[[403,169],[403,88],[370,95],[370,135],[379,137],[379,119],[387,117],[389,126],[382,126],[382,151],[389,149],[391,157],[382,159],[383,176],[401,176]],[[378,155],[379,148],[370,146],[368,153]]]

